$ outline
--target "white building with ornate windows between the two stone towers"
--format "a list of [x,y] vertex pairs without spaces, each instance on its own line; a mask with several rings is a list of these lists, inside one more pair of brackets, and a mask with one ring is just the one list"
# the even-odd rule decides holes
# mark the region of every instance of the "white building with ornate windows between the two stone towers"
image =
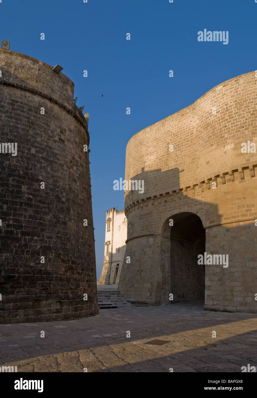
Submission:
[[104,266],[99,285],[118,285],[126,249],[127,219],[124,209],[106,211]]

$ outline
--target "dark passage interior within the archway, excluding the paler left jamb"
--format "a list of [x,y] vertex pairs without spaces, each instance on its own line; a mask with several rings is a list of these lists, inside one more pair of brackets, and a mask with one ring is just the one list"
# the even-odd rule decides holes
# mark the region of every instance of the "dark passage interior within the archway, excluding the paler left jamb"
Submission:
[[173,301],[197,300],[205,296],[205,265],[197,256],[205,252],[205,229],[195,214],[174,217],[170,232],[170,273]]

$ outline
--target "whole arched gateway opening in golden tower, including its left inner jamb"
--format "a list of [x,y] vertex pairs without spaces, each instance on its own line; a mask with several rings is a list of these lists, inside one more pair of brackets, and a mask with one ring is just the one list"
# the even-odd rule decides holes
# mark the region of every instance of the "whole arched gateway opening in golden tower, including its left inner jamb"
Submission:
[[162,283],[169,302],[205,297],[205,265],[198,264],[198,256],[204,252],[205,229],[199,216],[182,212],[164,222],[160,258]]

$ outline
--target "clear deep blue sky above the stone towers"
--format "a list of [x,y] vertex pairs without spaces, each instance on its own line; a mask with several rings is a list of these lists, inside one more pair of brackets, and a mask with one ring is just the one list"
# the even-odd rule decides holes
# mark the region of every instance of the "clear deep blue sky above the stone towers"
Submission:
[[[89,113],[99,279],[106,210],[124,208],[124,192],[113,190],[113,180],[124,179],[128,140],[214,86],[257,69],[257,3],[2,0],[0,16],[0,39],[11,42],[10,50],[61,65],[75,84],[77,105]],[[204,29],[228,31],[228,44],[199,42]]]

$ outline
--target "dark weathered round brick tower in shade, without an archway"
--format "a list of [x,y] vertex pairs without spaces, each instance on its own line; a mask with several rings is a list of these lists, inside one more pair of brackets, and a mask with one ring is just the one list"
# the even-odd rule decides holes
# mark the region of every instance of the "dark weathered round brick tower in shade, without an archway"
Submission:
[[16,156],[3,145],[0,153],[0,323],[95,315],[89,155],[83,150],[89,133],[73,103],[74,84],[44,62],[3,49],[0,70],[0,145],[17,143]]

